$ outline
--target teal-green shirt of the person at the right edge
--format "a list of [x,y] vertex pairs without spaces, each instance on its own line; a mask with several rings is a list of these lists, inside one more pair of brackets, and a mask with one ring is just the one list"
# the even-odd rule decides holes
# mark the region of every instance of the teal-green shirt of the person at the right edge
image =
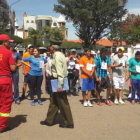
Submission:
[[140,73],[135,73],[136,71],[136,66],[140,66],[140,61],[137,62],[135,60],[135,57],[131,58],[129,60],[129,71],[131,72],[131,78],[132,79],[137,79],[139,80],[140,79]]

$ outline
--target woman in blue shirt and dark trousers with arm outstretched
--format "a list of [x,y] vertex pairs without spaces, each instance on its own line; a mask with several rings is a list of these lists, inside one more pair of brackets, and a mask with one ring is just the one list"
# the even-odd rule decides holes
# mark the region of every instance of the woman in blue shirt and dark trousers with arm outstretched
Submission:
[[30,82],[30,97],[32,106],[35,105],[34,102],[34,93],[35,88],[38,96],[38,104],[43,105],[41,101],[41,85],[43,81],[43,72],[42,68],[44,64],[47,63],[47,60],[40,56],[39,49],[34,48],[33,55],[23,59],[24,62],[29,61],[31,69],[29,71],[29,82]]

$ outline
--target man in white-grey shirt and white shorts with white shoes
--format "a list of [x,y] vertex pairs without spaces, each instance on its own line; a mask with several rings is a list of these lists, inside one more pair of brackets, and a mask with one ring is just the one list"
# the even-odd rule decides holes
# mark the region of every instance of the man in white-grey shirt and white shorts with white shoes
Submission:
[[[128,80],[128,59],[123,55],[123,50],[119,48],[118,54],[114,55],[111,60],[111,68],[113,74],[113,86],[115,92],[115,104],[125,104],[122,100],[123,89],[125,85],[125,81]],[[117,95],[119,94],[119,101]]]

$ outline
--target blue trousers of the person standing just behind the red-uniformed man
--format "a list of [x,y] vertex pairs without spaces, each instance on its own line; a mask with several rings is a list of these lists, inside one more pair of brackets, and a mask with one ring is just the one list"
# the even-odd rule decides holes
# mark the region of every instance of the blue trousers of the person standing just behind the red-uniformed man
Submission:
[[19,101],[19,72],[13,72],[12,73],[12,80],[13,80],[13,85],[14,85],[14,101]]

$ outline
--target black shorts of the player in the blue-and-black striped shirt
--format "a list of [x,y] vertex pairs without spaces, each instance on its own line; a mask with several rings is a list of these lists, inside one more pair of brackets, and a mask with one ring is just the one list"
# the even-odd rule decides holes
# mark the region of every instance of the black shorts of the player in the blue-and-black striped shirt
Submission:
[[110,79],[109,77],[101,77],[101,82],[97,82],[95,83],[95,87],[96,87],[96,90],[98,91],[102,91],[103,89],[106,89],[106,88],[111,88],[111,84],[110,84]]

